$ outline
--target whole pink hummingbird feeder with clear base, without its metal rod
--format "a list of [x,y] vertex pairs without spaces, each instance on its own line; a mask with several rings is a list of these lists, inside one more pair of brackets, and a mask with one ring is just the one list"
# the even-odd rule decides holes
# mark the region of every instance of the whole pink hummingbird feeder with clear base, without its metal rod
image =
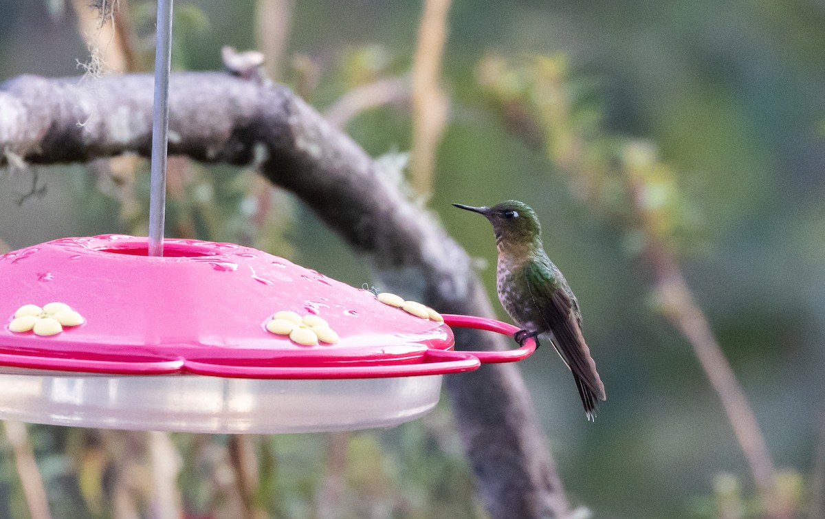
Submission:
[[0,418],[188,432],[391,427],[441,375],[504,352],[456,352],[437,314],[231,243],[62,238],[0,256]]

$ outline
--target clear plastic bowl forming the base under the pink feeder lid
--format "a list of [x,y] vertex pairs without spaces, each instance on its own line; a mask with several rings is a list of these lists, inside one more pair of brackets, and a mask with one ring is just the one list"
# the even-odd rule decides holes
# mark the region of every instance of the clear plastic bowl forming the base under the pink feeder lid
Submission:
[[394,427],[436,406],[441,377],[262,380],[20,370],[0,374],[0,418],[236,434]]

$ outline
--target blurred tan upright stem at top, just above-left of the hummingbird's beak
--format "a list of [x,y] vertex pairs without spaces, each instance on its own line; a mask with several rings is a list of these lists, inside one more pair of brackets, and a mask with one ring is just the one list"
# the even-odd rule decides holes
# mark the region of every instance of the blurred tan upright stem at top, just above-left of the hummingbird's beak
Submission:
[[432,191],[436,150],[447,122],[449,101],[441,91],[441,55],[450,0],[425,0],[413,58],[413,187],[425,197]]

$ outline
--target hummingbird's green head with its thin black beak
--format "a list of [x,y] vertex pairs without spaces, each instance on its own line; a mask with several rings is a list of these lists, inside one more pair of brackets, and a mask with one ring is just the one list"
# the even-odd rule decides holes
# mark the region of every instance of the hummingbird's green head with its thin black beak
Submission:
[[530,205],[517,200],[508,200],[493,207],[472,207],[470,205],[453,204],[459,209],[465,209],[484,215],[493,224],[496,234],[496,243],[499,248],[522,248],[540,243],[541,224],[535,211]]

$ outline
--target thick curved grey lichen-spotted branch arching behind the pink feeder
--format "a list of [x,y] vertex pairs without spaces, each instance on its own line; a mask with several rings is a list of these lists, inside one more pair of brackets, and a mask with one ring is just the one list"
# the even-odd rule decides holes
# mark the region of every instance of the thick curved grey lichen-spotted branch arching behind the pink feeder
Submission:
[[[147,155],[152,78],[93,83],[24,76],[0,85],[0,149],[28,163]],[[403,196],[398,181],[285,87],[222,73],[170,82],[169,153],[211,163],[260,164],[365,257],[385,290],[446,313],[492,316],[464,249]],[[512,347],[456,329],[457,346]],[[446,377],[460,435],[492,517],[564,517],[567,502],[521,376],[512,365]]]

